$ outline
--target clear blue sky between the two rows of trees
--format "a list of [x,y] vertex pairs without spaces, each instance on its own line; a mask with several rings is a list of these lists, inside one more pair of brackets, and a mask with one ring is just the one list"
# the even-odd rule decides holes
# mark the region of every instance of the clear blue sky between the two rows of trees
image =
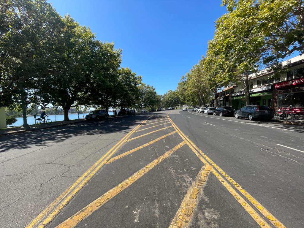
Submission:
[[207,50],[214,22],[226,12],[220,0],[48,0],[101,41],[123,49],[122,67],[164,94]]

